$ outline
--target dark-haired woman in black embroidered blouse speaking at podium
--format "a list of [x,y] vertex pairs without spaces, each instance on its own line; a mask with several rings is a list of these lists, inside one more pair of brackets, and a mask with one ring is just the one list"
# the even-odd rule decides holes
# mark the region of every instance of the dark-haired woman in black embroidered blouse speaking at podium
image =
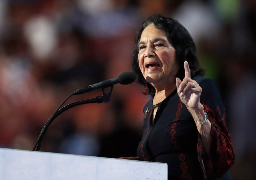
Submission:
[[224,99],[203,77],[188,31],[166,16],[147,18],[137,32],[132,70],[152,98],[143,110],[138,157],[123,159],[167,163],[171,180],[218,179],[227,172],[234,151]]

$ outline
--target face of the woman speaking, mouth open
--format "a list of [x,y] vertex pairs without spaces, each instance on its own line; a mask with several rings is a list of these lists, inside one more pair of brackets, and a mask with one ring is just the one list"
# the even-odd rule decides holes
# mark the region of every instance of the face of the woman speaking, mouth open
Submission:
[[175,49],[165,31],[148,25],[141,34],[139,47],[139,67],[147,82],[154,87],[175,82],[179,65],[175,60]]

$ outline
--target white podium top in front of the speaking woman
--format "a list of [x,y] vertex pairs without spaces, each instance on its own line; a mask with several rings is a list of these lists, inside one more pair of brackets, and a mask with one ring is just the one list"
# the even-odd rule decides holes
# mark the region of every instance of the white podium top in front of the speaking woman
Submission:
[[167,180],[167,164],[0,148],[1,180]]

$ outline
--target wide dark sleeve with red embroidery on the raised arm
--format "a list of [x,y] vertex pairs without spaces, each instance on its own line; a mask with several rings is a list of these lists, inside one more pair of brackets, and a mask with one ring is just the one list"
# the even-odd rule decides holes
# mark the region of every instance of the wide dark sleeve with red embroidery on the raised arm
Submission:
[[209,178],[221,177],[234,163],[234,150],[225,123],[225,104],[218,86],[210,80],[207,84],[202,83],[201,104],[208,114],[211,127],[210,155],[207,157],[203,152],[202,142],[199,136],[197,151],[199,162]]

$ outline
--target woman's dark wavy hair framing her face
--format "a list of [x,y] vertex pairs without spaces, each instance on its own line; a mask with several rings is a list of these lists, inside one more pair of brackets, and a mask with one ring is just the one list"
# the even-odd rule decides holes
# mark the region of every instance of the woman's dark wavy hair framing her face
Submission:
[[[196,45],[188,31],[184,28],[184,26],[173,18],[160,14],[153,14],[152,16],[148,17],[144,22],[142,22],[141,28],[136,34],[136,48],[132,51],[131,54],[132,70],[137,75],[137,82],[144,86],[146,85],[146,80],[143,77],[139,67],[138,42],[140,40],[143,30],[152,23],[155,25],[157,29],[165,31],[168,40],[175,49],[175,59],[177,60],[180,67],[176,77],[179,77],[181,80],[185,77],[185,60],[188,62],[189,68],[191,70],[191,78],[199,74],[204,75],[204,70],[200,68],[197,59]],[[155,88],[150,83],[147,83],[147,86],[149,92],[148,94],[154,96]]]

